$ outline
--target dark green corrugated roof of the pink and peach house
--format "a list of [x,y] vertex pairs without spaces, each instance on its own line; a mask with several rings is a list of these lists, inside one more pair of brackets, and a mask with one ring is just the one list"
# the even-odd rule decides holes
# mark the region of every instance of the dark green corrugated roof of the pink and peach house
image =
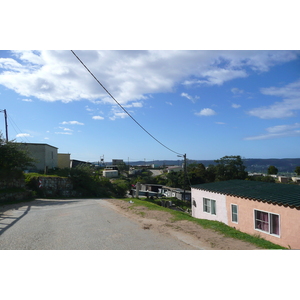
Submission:
[[300,186],[249,180],[228,180],[192,185],[219,194],[300,208]]

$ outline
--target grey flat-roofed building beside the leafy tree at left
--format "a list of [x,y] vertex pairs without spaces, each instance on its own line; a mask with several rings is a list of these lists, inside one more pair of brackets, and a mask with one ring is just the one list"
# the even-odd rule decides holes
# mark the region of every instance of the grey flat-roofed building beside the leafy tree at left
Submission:
[[29,154],[36,160],[34,167],[29,168],[30,171],[45,171],[57,168],[57,147],[37,143],[20,143],[19,145],[27,149]]

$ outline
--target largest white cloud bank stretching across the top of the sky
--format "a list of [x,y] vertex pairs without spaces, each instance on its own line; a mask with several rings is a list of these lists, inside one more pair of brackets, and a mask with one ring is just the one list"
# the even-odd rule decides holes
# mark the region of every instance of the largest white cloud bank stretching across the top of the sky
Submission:
[[[222,85],[297,58],[294,51],[76,51],[121,104],[172,92],[176,84]],[[43,101],[115,104],[70,51],[15,51],[0,58],[0,84]],[[134,106],[133,107],[138,107]],[[136,105],[136,104],[135,104]]]

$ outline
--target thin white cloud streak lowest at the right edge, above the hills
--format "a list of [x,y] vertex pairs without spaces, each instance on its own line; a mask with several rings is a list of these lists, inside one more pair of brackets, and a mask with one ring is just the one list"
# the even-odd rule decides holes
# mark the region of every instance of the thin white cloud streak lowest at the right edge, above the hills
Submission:
[[281,138],[286,136],[300,136],[300,123],[292,125],[277,125],[266,128],[267,134],[247,137],[245,140],[266,140],[273,138]]

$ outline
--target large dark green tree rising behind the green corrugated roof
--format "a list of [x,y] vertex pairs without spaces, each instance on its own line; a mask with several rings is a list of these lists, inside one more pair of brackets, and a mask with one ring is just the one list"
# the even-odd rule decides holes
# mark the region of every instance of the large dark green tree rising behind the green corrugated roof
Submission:
[[215,160],[216,180],[224,181],[231,179],[246,179],[248,172],[245,171],[243,160],[239,155],[237,156],[224,156]]

